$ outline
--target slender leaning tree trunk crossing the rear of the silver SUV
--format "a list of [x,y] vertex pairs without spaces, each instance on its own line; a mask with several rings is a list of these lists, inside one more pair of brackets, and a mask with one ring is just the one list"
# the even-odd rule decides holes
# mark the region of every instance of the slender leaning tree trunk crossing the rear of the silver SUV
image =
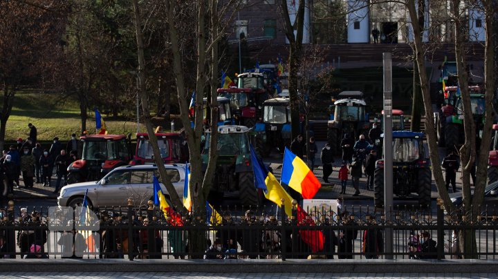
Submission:
[[142,17],[140,15],[140,8],[138,6],[138,0],[133,0],[133,10],[135,14],[135,32],[137,40],[137,52],[138,52],[138,94],[142,101],[143,118],[145,122],[145,127],[147,128],[147,133],[149,134],[149,142],[152,146],[152,151],[154,152],[154,161],[158,167],[160,180],[163,182],[166,190],[169,193],[169,197],[172,202],[172,206],[176,211],[183,211],[183,202],[181,201],[176,189],[174,188],[171,180],[169,179],[163,162],[163,157],[160,155],[159,146],[157,142],[157,137],[154,134],[154,128],[150,121],[150,107],[149,107],[149,95],[147,90],[145,90],[145,57],[144,57],[144,46],[142,41]]

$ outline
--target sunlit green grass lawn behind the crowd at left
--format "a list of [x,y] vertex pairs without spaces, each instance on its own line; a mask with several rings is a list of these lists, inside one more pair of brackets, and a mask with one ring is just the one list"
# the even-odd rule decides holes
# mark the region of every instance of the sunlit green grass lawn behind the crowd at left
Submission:
[[[80,108],[77,102],[72,99],[59,100],[59,95],[43,94],[36,90],[26,90],[17,93],[12,107],[12,113],[8,119],[6,127],[6,141],[23,140],[29,135],[28,123],[33,123],[37,127],[38,140],[52,140],[59,137],[66,141],[72,133],[80,133],[81,119]],[[103,110],[103,108],[100,108]],[[107,131],[110,134],[136,133],[136,119],[126,117],[104,117]],[[95,133],[95,114],[89,111],[89,119],[86,121],[86,128],[90,134]],[[145,131],[145,126],[141,125],[140,131]]]

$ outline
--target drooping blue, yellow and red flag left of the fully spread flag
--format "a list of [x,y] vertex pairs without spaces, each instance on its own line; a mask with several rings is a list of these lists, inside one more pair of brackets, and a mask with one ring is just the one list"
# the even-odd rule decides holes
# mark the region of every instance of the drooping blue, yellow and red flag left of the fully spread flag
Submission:
[[[292,216],[292,198],[282,185],[279,184],[275,176],[266,169],[266,166],[256,156],[254,148],[250,146],[251,160],[253,162],[252,168],[254,169],[256,187],[264,191],[265,198],[275,202],[278,206],[282,205],[284,199],[285,213],[287,216]],[[307,218],[308,214],[304,211],[299,204],[297,205],[297,222],[301,226],[315,226],[315,222],[311,218]],[[316,230],[301,230],[299,231],[301,239],[308,244],[311,251],[322,251],[324,244],[324,236],[322,231]]]

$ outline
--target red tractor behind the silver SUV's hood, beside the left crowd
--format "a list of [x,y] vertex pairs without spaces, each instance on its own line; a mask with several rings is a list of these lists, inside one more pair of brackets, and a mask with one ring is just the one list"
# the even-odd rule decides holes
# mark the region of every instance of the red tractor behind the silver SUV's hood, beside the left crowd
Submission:
[[125,135],[82,135],[82,154],[68,166],[68,184],[100,180],[118,166],[128,164],[130,137]]

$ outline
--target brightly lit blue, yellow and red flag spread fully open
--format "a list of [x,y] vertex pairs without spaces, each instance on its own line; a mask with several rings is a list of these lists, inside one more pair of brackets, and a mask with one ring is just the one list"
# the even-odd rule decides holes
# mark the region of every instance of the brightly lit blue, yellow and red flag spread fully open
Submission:
[[312,199],[322,186],[313,171],[288,148],[284,152],[281,181],[301,193],[304,199]]

